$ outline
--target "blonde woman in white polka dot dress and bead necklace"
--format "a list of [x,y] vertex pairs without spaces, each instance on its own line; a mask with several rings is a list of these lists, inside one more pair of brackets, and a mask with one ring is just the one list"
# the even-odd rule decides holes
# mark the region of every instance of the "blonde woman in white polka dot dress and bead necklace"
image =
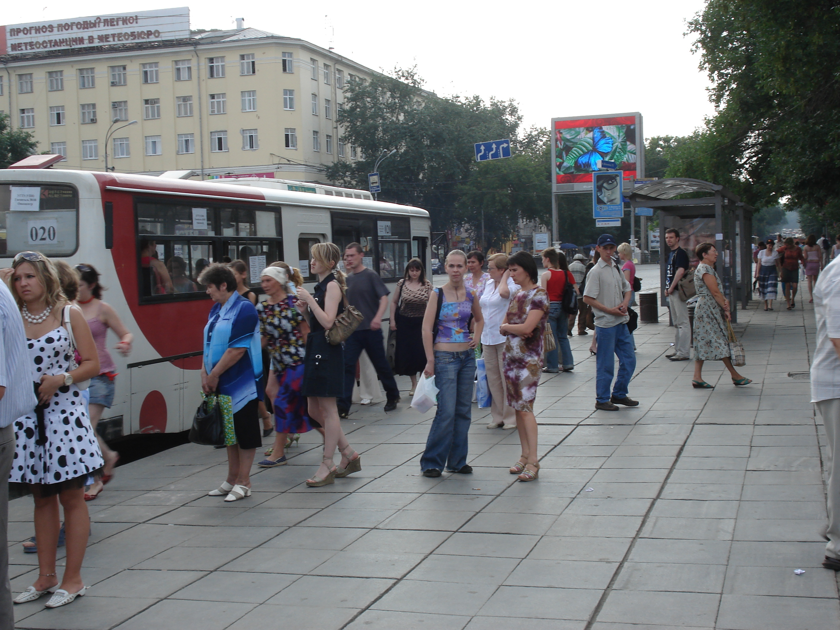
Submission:
[[[32,491],[39,575],[13,601],[34,601],[50,592],[55,595],[46,606],[54,608],[87,590],[81,581],[90,532],[85,481],[88,475],[102,476],[105,462],[76,383],[99,374],[99,359],[81,311],[64,308],[67,301],[58,275],[44,255],[22,252],[15,256],[11,286],[24,318],[38,396],[38,407],[14,423],[17,444],[9,481],[29,484]],[[68,330],[76,340],[76,358]],[[67,546],[60,588],[55,571],[59,501],[64,508]]]

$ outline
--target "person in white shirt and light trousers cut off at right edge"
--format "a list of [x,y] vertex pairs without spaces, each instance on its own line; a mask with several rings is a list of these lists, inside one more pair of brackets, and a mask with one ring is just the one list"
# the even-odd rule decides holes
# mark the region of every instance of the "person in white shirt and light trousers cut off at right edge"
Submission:
[[816,349],[811,362],[811,402],[826,428],[828,528],[822,566],[840,571],[840,262],[822,270],[814,287]]

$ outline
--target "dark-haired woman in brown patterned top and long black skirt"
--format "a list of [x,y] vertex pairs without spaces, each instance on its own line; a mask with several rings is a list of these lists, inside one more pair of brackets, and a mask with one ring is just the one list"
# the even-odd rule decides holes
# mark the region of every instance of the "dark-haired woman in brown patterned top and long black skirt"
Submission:
[[391,330],[396,330],[394,373],[411,377],[409,396],[414,396],[417,372],[426,367],[422,324],[431,290],[432,283],[426,280],[423,263],[412,258],[406,265],[405,276],[396,283],[396,291],[391,294]]

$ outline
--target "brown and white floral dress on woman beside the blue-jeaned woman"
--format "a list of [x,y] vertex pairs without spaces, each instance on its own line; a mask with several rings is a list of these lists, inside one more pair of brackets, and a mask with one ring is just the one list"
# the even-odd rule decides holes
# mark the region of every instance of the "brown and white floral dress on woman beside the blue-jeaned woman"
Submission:
[[517,291],[507,307],[507,323],[525,323],[528,312],[542,311],[537,328],[530,337],[507,335],[504,353],[507,404],[517,412],[533,412],[539,377],[543,370],[543,333],[549,318],[549,294],[542,286]]

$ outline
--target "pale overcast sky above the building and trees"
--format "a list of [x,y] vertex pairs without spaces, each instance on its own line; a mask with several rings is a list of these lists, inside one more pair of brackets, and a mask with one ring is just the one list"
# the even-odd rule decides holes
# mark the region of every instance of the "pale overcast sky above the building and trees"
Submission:
[[[183,6],[127,2],[126,13]],[[685,37],[702,0],[483,3],[234,3],[203,0],[192,28],[245,26],[306,39],[374,70],[417,66],[441,96],[513,98],[524,125],[551,118],[641,112],[644,135],[690,134],[711,115],[699,55]],[[113,2],[8,3],[6,24],[114,13]]]

